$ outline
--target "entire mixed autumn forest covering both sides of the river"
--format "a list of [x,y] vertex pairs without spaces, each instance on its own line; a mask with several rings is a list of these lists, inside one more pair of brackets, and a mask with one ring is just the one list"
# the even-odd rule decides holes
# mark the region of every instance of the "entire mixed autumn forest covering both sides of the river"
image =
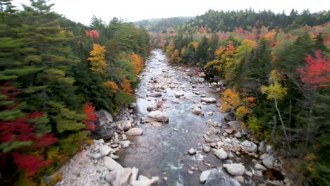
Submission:
[[1,185],[46,185],[45,175],[92,144],[94,111],[116,115],[135,101],[152,47],[172,66],[223,82],[221,111],[274,144],[298,185],[330,185],[329,11],[93,16],[87,26],[30,1],[19,10],[0,0]]

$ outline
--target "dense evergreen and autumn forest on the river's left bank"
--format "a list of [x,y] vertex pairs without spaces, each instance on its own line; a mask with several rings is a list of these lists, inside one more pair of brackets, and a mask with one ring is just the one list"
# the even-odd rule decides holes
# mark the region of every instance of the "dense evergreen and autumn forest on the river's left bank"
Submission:
[[149,35],[118,18],[74,23],[44,0],[0,5],[0,182],[43,185],[88,143],[95,109],[134,101]]

